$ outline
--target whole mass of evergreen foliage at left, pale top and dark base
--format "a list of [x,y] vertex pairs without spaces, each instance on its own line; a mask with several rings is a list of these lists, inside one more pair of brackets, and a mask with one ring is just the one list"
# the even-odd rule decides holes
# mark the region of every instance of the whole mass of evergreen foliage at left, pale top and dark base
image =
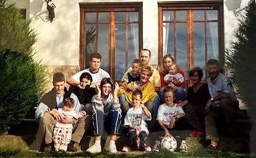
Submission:
[[36,34],[14,4],[0,0],[0,133],[25,117],[45,93],[45,66],[33,59]]

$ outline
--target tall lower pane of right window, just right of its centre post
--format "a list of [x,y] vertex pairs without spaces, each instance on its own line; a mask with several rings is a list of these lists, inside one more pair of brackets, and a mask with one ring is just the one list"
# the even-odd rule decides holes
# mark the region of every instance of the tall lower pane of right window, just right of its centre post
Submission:
[[[205,70],[205,23],[194,23],[194,67]],[[205,74],[205,73],[203,73]]]

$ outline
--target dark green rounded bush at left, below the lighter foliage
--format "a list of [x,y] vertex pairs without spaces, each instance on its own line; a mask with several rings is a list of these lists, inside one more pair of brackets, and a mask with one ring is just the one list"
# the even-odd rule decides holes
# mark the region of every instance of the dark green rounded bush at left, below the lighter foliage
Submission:
[[0,47],[0,133],[31,116],[38,100],[36,71],[31,55]]

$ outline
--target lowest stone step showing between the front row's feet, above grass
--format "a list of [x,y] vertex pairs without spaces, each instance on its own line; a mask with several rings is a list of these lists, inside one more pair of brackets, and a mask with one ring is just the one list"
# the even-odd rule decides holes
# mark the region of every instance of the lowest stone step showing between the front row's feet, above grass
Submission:
[[[182,131],[184,132],[184,131]],[[151,148],[155,144],[156,140],[161,140],[163,138],[162,132],[151,133],[150,134],[150,143]],[[15,136],[15,135],[1,135],[0,136],[0,149],[1,150],[14,150],[14,149],[29,149],[28,146],[34,140],[34,135],[22,135],[22,136]],[[179,136],[176,136],[177,140],[177,149],[176,152],[179,152]],[[116,147],[117,151],[121,151],[122,147],[124,146],[126,141],[126,136],[117,136],[116,140]],[[196,137],[187,137],[186,138],[187,147],[189,152],[197,152],[202,151],[207,146],[205,142],[205,138],[196,138]],[[90,146],[94,143],[93,136],[83,136],[79,149],[80,151],[86,151]],[[102,136],[101,139],[101,148],[105,151],[109,149],[109,136]],[[226,138],[221,137],[218,149],[220,151],[230,151],[230,152],[249,152],[249,140],[245,138]]]

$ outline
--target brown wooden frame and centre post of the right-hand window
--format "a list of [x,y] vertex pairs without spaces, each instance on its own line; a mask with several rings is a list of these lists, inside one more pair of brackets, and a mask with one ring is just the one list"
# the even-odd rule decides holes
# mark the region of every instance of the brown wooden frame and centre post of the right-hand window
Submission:
[[[163,59],[163,10],[218,10],[218,41],[219,41],[219,61],[221,66],[224,65],[224,15],[223,15],[223,1],[193,1],[193,2],[184,2],[184,1],[175,1],[175,2],[158,2],[158,65],[162,65],[161,61]],[[192,14],[187,14],[192,16]],[[192,21],[191,17],[188,17]],[[194,67],[194,52],[191,45],[194,45],[193,36],[189,33],[189,30],[193,28],[193,22],[187,20],[188,31],[187,31],[187,59],[188,59],[188,70]],[[191,32],[191,31],[190,31]],[[191,40],[192,39],[192,40]],[[174,50],[176,45],[174,45]],[[206,53],[207,55],[207,53]],[[207,57],[206,57],[207,58]],[[207,61],[205,61],[205,65]],[[186,73],[186,72],[185,72]],[[189,72],[187,72],[188,74]],[[207,74],[206,74],[207,75]]]

